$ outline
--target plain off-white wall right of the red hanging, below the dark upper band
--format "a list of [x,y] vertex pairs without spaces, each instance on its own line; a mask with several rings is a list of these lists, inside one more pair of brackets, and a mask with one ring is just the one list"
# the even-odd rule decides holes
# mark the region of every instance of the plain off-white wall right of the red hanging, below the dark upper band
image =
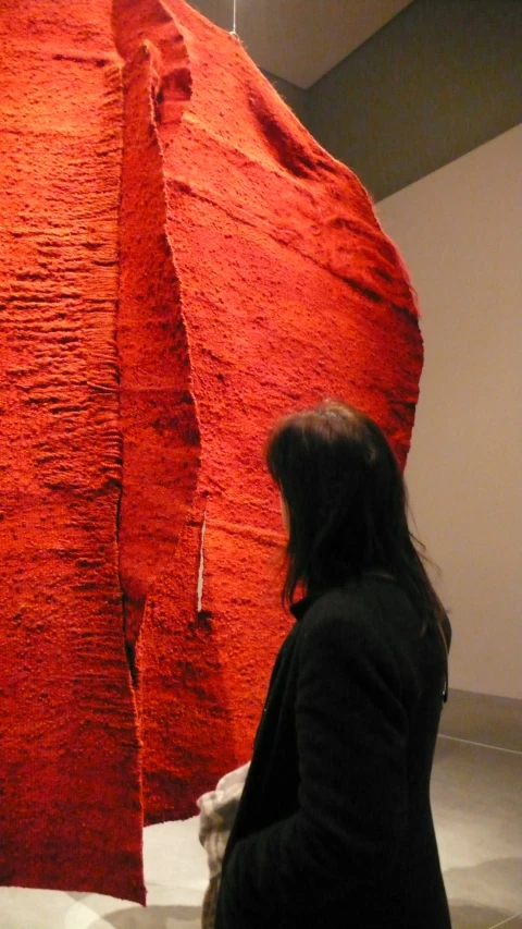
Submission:
[[522,698],[522,125],[382,200],[425,363],[407,481],[450,687]]

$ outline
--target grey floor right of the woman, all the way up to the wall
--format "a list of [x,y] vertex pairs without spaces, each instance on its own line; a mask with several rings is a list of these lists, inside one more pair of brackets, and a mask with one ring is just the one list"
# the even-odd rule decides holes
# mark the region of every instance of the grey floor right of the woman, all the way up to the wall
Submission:
[[432,807],[453,929],[522,929],[522,701],[450,690]]

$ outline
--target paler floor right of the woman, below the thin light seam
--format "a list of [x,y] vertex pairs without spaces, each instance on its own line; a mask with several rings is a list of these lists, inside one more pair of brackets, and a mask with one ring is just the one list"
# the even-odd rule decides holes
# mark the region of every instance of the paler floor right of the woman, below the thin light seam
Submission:
[[521,787],[522,754],[439,737],[432,806],[453,929],[522,929]]

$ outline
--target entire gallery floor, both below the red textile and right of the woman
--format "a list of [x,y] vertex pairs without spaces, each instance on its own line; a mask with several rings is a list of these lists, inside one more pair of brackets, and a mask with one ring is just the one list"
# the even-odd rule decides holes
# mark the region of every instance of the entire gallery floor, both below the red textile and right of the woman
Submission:
[[[460,690],[444,710],[432,804],[453,929],[522,929],[521,720],[520,701]],[[198,929],[207,866],[197,826],[146,829],[147,908],[0,888],[0,929]]]

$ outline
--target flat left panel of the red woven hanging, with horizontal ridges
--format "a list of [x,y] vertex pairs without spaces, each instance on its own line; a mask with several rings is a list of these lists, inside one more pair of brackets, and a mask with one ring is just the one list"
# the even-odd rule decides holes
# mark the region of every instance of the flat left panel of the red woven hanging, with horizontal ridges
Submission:
[[0,84],[0,882],[139,901],[110,0],[2,0]]

